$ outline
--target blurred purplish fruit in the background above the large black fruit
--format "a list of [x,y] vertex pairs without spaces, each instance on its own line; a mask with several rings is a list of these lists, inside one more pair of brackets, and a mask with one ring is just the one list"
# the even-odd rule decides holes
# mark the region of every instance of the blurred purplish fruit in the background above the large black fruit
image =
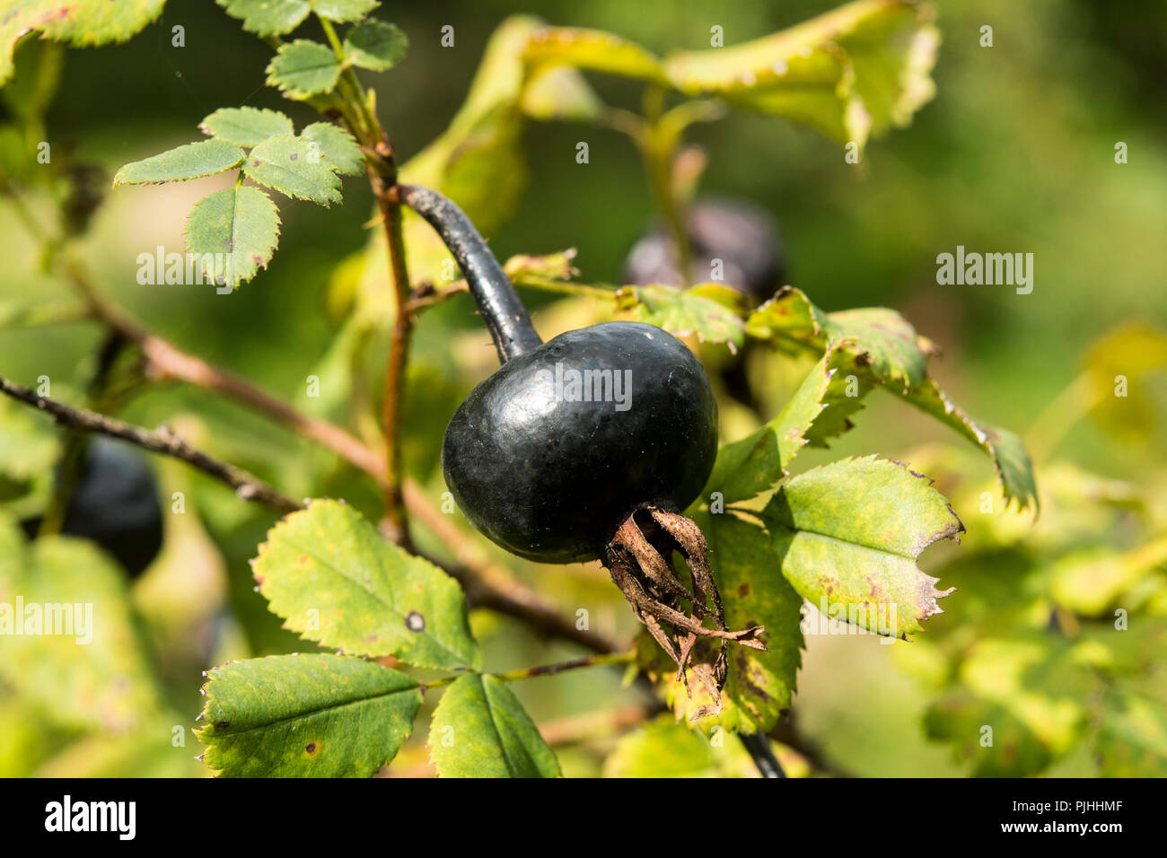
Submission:
[[[764,209],[741,201],[703,201],[689,209],[693,264],[689,280],[713,279],[713,260],[721,260],[721,280],[755,302],[774,297],[785,277],[777,224]],[[629,251],[622,280],[630,284],[680,285],[672,236],[652,229]]]

